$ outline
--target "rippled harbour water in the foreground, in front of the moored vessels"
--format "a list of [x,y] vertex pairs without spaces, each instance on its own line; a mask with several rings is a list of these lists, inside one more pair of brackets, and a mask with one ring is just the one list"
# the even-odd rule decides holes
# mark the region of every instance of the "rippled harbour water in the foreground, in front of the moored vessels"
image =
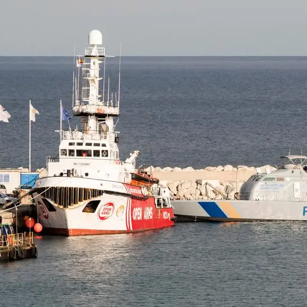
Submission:
[[0,264],[1,306],[289,307],[306,304],[305,223],[196,223],[36,240]]

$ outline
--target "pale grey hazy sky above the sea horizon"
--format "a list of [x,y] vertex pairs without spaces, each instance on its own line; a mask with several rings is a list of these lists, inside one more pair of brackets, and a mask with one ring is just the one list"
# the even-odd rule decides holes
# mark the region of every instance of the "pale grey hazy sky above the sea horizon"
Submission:
[[1,0],[0,56],[306,56],[307,0]]

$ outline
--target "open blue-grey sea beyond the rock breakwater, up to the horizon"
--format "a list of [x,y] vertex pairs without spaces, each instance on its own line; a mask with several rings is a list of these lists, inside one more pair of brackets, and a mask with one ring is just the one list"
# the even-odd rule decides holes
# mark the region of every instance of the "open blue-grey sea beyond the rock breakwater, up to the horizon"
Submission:
[[[58,154],[59,99],[71,112],[73,65],[0,57],[0,103],[12,116],[0,122],[0,167],[28,166],[29,99],[40,113],[32,169]],[[115,92],[118,58],[106,69]],[[307,57],[123,57],[121,80],[121,159],[139,149],[139,165],[204,168],[274,165],[289,148],[307,154]]]

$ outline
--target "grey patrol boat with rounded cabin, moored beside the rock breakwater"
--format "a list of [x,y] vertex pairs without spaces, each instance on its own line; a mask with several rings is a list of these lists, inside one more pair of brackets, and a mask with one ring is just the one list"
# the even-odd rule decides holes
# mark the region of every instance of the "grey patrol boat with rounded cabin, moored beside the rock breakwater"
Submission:
[[307,221],[307,158],[281,159],[272,173],[251,176],[237,200],[171,201],[177,221]]

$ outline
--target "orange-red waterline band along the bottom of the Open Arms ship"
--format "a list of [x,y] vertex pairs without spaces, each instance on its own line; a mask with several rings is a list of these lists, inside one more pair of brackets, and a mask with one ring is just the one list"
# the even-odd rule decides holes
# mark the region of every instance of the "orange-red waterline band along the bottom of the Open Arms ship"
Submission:
[[141,232],[155,229],[162,229],[166,227],[172,227],[174,223],[161,226],[157,228],[149,228],[149,229],[136,229],[136,230],[96,230],[96,229],[67,229],[67,228],[44,228],[43,232],[46,234],[53,235],[66,235],[66,236],[75,236],[75,235],[95,235],[95,234],[119,234],[119,233],[133,233],[133,232]]

